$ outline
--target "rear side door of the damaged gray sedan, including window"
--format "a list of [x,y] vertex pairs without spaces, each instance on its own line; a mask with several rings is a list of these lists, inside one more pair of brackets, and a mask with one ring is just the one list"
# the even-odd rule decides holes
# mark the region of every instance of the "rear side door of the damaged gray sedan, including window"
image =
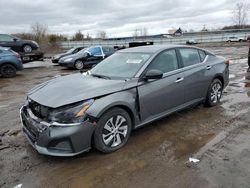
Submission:
[[196,48],[179,48],[178,53],[185,77],[185,103],[201,100],[211,81],[211,66],[205,63],[206,53]]

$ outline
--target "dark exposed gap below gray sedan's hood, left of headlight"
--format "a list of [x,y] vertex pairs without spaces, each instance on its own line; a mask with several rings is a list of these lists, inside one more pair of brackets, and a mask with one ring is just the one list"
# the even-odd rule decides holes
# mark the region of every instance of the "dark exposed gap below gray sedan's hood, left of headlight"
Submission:
[[29,108],[35,116],[41,119],[48,119],[49,107],[43,106],[35,101],[29,100]]

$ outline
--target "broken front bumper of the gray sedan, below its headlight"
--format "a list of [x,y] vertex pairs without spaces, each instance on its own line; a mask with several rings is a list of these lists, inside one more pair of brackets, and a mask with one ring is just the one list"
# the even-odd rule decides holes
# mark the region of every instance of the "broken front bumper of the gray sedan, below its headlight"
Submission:
[[49,124],[37,118],[27,106],[21,108],[20,118],[24,134],[40,154],[67,157],[91,148],[95,127],[88,121],[70,126]]

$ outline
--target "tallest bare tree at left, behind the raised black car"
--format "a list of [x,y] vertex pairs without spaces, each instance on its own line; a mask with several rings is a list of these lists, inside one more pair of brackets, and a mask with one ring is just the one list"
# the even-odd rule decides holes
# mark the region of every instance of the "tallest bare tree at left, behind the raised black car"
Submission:
[[38,42],[39,44],[42,43],[42,41],[45,40],[47,32],[48,32],[48,26],[41,24],[39,22],[36,22],[31,25],[31,31],[34,35],[34,40]]

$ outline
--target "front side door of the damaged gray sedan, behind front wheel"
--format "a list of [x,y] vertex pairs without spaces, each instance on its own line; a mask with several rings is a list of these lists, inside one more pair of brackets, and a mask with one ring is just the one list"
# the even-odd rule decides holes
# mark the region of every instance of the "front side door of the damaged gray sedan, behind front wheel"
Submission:
[[162,71],[163,78],[141,81],[138,84],[140,113],[142,121],[165,115],[184,102],[183,77],[179,70],[175,49],[160,53],[147,70]]

